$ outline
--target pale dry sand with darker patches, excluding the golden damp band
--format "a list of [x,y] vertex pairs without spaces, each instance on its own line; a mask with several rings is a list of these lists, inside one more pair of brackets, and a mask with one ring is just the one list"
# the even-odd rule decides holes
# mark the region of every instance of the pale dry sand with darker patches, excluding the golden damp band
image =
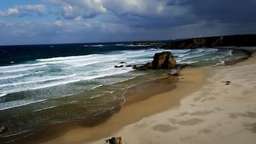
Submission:
[[[232,66],[212,68],[207,84],[184,97],[180,105],[144,117],[110,136],[123,136],[128,144],[255,144],[255,56]],[[226,85],[225,81],[231,83]],[[171,91],[163,95],[174,94]],[[105,139],[91,143],[102,144]]]

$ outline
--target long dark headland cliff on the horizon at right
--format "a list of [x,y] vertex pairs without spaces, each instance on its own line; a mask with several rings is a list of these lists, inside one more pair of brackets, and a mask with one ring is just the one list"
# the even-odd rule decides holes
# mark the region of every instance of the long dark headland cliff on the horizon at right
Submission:
[[223,37],[200,37],[169,42],[163,48],[193,49],[199,47],[253,47],[256,34],[232,35]]

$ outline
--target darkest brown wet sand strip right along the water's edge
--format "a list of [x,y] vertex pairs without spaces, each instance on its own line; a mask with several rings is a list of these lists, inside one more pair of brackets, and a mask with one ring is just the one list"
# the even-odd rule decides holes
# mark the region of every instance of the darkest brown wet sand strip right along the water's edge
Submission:
[[[125,90],[124,97],[126,100],[123,107],[126,107],[126,105],[132,105],[134,102],[143,101],[148,97],[152,97],[153,95],[156,95],[158,93],[167,92],[174,89],[177,77],[165,75],[166,72],[166,70],[164,70],[163,72],[157,72],[158,77],[155,77],[156,79],[148,80],[146,82],[140,83],[139,85],[128,87],[128,89]],[[150,89],[150,91],[148,91],[148,93],[143,92],[146,89]],[[67,133],[70,130],[74,130],[77,128],[90,129],[93,127],[97,127],[98,125],[105,123],[105,121],[107,121],[110,117],[113,117],[113,115],[115,115],[113,114],[113,112],[118,113],[120,111],[119,109],[121,109],[121,107],[115,107],[115,110],[105,112],[103,115],[98,117],[96,122],[90,123],[86,120],[78,120],[75,122],[47,125],[43,130],[35,131],[34,134],[27,137],[23,137],[23,134],[19,135],[19,137],[11,143],[44,143],[44,141],[61,137],[63,134]],[[42,137],[42,135],[44,135],[44,137]],[[0,140],[0,142],[6,143],[6,140],[9,141],[11,140],[11,138],[3,138],[2,140]]]

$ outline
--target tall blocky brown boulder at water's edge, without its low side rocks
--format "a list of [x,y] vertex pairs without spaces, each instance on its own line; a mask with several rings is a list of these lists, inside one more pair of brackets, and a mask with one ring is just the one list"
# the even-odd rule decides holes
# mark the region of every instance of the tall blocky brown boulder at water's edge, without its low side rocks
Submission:
[[153,69],[175,69],[176,60],[171,52],[156,53],[153,56]]

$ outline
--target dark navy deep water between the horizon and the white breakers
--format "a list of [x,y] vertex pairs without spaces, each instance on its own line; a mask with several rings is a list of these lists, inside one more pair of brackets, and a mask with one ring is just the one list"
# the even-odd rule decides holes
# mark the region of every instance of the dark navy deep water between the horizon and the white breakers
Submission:
[[143,48],[145,47],[133,46],[132,42],[0,46],[0,65],[19,64],[34,59],[104,54],[111,51]]

